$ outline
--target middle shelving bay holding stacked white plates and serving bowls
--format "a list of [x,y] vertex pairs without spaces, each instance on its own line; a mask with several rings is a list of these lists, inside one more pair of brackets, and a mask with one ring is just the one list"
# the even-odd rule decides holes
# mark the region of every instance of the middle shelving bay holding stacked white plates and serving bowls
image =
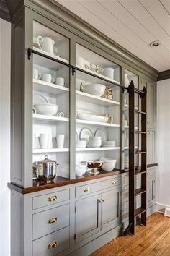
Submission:
[[120,168],[120,67],[79,44],[76,67],[88,72],[76,71],[76,175],[86,161],[104,161],[98,171]]

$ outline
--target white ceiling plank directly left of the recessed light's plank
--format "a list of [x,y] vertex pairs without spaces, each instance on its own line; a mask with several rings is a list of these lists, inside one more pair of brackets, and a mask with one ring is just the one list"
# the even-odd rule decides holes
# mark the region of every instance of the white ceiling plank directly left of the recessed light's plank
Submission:
[[[134,47],[137,46],[140,49],[141,54],[145,52],[154,61],[159,61],[163,68],[166,68],[166,64],[169,64],[168,60],[164,59],[160,54],[157,54],[156,51],[154,51],[153,48],[149,47],[148,44],[141,40],[138,35],[133,32],[133,30],[129,29],[125,24],[118,20],[117,17],[112,15],[111,12],[105,9],[97,1],[77,0],[77,2],[79,2],[84,8],[88,9],[89,12],[92,12],[95,16],[99,17],[99,19],[101,19],[110,28],[123,35],[123,37],[132,43]],[[154,54],[151,54],[152,51]]]

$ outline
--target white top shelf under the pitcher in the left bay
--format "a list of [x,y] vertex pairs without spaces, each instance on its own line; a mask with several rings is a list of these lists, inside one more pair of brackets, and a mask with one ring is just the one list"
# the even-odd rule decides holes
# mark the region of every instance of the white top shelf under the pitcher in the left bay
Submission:
[[[55,56],[53,54],[48,54],[48,52],[42,51],[39,48],[33,47],[33,50],[39,52],[40,54],[44,54],[45,56],[50,56],[53,59],[56,59],[58,61],[63,61],[64,63],[69,64],[68,60]],[[64,67],[63,64],[61,63],[58,63],[56,61],[51,61],[50,59],[44,58],[37,54],[34,54],[34,64],[38,64],[42,67],[47,67],[48,69],[61,69],[62,67]]]

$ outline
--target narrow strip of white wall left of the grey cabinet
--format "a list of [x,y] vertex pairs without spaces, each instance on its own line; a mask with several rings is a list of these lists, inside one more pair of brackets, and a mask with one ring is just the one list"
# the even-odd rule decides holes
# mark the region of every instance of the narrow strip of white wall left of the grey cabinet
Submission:
[[0,19],[0,256],[10,256],[11,24]]

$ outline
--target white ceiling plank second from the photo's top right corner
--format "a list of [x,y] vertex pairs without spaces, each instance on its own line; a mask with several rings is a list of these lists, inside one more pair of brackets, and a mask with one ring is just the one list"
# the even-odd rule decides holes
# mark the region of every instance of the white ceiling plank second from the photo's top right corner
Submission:
[[170,36],[170,16],[166,9],[162,6],[160,1],[154,0],[139,0],[141,4],[147,9],[147,11],[152,15],[152,17],[158,22],[161,28],[166,31]]

